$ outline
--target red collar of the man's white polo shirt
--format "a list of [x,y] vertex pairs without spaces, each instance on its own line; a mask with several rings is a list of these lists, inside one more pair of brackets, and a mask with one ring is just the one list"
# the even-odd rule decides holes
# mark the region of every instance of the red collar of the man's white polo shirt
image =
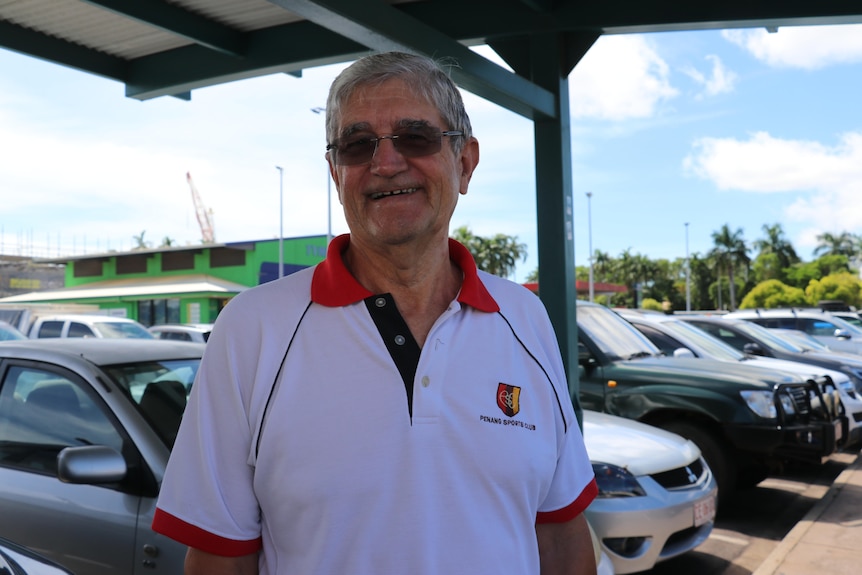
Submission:
[[[341,307],[371,297],[371,293],[354,278],[341,259],[341,254],[350,245],[350,234],[343,234],[329,243],[326,259],[317,264],[311,280],[311,301],[327,307]],[[453,239],[449,239],[449,258],[464,274],[458,301],[485,312],[496,312],[500,306],[488,293],[479,279],[476,262],[470,252]]]

